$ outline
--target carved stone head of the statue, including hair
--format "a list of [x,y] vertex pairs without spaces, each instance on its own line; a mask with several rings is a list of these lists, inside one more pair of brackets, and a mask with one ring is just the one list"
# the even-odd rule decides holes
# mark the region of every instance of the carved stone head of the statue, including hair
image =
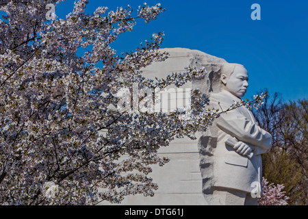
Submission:
[[242,97],[248,88],[248,72],[241,64],[223,64],[220,74],[222,90],[227,90],[234,96]]

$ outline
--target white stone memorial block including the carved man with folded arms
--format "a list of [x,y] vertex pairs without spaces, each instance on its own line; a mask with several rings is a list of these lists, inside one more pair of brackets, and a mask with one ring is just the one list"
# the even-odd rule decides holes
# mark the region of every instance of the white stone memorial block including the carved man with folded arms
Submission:
[[[198,88],[209,95],[210,107],[215,109],[227,110],[244,96],[248,86],[244,66],[229,64],[197,50],[162,51],[170,54],[168,59],[142,69],[144,77],[165,78],[172,72],[184,72],[186,66],[205,67],[205,79],[185,83],[181,88]],[[171,94],[172,88],[176,87],[167,88],[170,93],[168,107],[189,98],[188,95]],[[149,176],[159,186],[153,197],[127,196],[120,204],[255,205],[256,198],[247,197],[253,190],[253,183],[260,183],[260,154],[270,149],[271,136],[259,128],[251,112],[245,107],[227,112],[196,137],[197,140],[175,139],[169,146],[159,149],[159,155],[168,157],[170,162],[162,167],[153,166]]]

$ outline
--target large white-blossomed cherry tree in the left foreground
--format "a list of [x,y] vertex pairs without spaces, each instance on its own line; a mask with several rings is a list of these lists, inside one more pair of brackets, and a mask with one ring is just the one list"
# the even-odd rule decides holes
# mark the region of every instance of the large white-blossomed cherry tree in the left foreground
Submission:
[[[135,16],[130,6],[85,14],[88,1],[79,0],[65,19],[47,21],[46,5],[61,1],[0,1],[0,203],[91,205],[153,196],[150,166],[168,162],[157,149],[174,138],[194,138],[218,111],[206,110],[198,90],[189,119],[181,110],[119,111],[116,94],[136,83],[151,90],[181,86],[206,71],[188,67],[166,79],[142,77],[141,68],[168,57],[158,50],[163,33],[136,51],[112,49],[138,19],[149,23],[164,12],[160,4],[144,4]],[[80,48],[87,52],[78,55]],[[261,96],[254,101],[261,103]]]

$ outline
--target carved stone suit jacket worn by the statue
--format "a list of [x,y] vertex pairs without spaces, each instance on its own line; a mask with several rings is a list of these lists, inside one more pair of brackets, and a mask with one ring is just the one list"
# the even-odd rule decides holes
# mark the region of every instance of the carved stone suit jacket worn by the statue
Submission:
[[[235,102],[241,101],[228,91],[212,93],[209,100],[210,106],[219,110],[227,110]],[[213,185],[252,192],[257,182],[261,192],[261,154],[270,150],[272,136],[259,127],[252,112],[242,106],[222,113],[209,127],[209,132],[217,138],[216,145],[212,145],[214,149],[211,149],[214,160],[211,170]],[[238,154],[226,144],[229,138],[250,145],[253,156],[248,158]]]

